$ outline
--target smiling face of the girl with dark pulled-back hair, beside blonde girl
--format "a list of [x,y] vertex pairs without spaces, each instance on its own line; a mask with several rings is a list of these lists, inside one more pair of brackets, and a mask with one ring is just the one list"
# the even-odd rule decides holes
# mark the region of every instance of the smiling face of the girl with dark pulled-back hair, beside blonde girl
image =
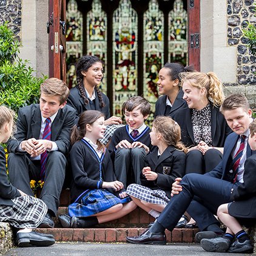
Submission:
[[163,69],[160,69],[158,76],[159,79],[157,81],[157,86],[161,95],[168,96],[173,92],[173,90],[178,89],[179,81],[178,79],[172,80],[169,75],[169,69],[163,67]]

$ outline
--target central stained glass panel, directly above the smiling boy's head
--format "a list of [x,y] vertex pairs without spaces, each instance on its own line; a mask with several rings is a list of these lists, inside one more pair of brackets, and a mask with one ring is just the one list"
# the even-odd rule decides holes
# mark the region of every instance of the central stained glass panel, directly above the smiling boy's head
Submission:
[[137,95],[138,18],[129,0],[113,13],[113,115],[122,115],[126,99]]

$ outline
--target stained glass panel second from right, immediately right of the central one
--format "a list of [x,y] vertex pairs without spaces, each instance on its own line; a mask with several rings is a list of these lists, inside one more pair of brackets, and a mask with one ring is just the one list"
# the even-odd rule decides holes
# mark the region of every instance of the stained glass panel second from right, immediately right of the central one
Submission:
[[158,72],[164,61],[164,15],[158,8],[157,0],[149,2],[149,9],[144,13],[144,97],[152,103],[153,120],[155,102],[158,99]]

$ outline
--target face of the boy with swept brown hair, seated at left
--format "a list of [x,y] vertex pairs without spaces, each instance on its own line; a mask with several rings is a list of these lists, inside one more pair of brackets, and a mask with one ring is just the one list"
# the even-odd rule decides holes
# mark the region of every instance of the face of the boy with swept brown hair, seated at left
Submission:
[[41,93],[39,105],[41,115],[44,118],[48,118],[58,112],[59,109],[62,109],[66,105],[66,102],[60,104],[59,96],[49,96]]

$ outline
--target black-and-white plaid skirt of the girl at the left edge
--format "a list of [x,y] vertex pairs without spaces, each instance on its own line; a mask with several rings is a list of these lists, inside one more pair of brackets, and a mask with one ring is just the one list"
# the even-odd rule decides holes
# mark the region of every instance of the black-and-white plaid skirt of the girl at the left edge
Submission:
[[29,195],[12,199],[13,205],[0,205],[0,221],[10,223],[17,229],[35,229],[47,213],[46,204]]

